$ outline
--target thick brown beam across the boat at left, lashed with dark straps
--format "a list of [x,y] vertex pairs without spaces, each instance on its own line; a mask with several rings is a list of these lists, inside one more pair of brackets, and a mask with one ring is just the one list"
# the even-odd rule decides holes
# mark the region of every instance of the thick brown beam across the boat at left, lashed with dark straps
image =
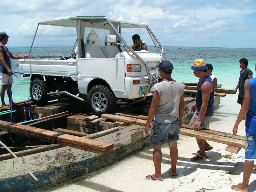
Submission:
[[[6,131],[7,124],[10,124],[10,122],[0,121],[0,129]],[[47,142],[51,142],[52,135],[56,134],[56,132],[54,131],[48,131],[48,130],[30,127],[30,126],[21,125],[21,124],[13,124],[13,125],[10,125],[9,128],[10,128],[10,132],[12,133],[25,135],[28,137],[34,137]],[[77,137],[74,135],[68,135],[68,134],[57,136],[56,143],[64,146],[91,151],[101,155],[105,155],[109,152],[112,152],[114,147],[112,143],[106,143],[106,142],[96,141],[92,139],[85,139],[85,138]]]

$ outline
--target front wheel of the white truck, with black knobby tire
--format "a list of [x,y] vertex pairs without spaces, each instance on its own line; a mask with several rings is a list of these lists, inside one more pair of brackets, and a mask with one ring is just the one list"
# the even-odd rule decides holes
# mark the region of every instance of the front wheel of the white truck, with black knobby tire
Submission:
[[116,107],[116,97],[104,85],[92,87],[89,91],[89,102],[92,111],[97,115],[112,113]]

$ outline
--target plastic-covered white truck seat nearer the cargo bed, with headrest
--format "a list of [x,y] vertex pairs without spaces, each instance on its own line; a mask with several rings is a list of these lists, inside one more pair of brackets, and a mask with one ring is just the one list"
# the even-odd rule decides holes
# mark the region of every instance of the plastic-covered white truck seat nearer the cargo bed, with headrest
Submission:
[[[106,58],[99,45],[94,44],[99,41],[96,34],[90,33],[87,37],[87,43],[84,44],[86,58]],[[92,42],[92,43],[90,43]]]

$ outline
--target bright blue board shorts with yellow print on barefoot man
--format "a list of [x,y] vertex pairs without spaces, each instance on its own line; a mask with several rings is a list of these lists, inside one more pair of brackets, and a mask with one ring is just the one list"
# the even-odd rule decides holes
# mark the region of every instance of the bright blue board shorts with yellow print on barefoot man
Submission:
[[256,160],[256,135],[247,132],[245,145],[246,145],[245,160],[246,161]]

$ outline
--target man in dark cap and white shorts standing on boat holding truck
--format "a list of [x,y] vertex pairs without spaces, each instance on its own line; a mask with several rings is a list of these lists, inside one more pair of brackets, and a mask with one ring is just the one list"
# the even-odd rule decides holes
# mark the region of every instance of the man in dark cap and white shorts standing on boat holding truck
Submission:
[[0,32],[0,84],[2,85],[2,88],[0,91],[0,97],[2,102],[1,107],[4,109],[9,109],[9,106],[7,106],[4,102],[5,90],[7,90],[7,95],[11,104],[11,93],[12,93],[12,83],[13,83],[11,59],[23,59],[28,57],[26,55],[25,56],[12,55],[12,53],[9,52],[8,48],[5,46],[8,42],[8,38],[9,36],[5,32],[3,31]]

